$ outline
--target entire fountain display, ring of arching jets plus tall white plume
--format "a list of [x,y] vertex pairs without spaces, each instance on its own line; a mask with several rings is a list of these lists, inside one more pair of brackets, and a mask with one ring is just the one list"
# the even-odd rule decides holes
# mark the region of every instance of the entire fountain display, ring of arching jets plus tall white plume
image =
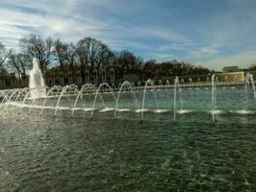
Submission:
[[[45,87],[41,72],[38,69],[38,62],[35,60],[34,68],[31,72],[31,86],[0,90],[0,108],[3,107],[2,112],[7,114],[15,112],[33,114],[35,111],[41,116],[57,116],[57,114],[62,116],[66,114],[71,117],[77,117],[77,115],[88,115],[90,113],[90,117],[94,117],[94,115],[106,112],[106,114],[110,115],[108,117],[111,118],[127,116],[128,118],[138,119],[136,113],[140,113],[141,120],[147,119],[147,117],[150,118],[150,115],[153,115],[154,119],[157,117],[154,113],[167,113],[168,119],[170,114],[173,121],[177,120],[177,115],[185,115],[185,113],[206,112],[210,116],[210,111],[212,122],[216,122],[216,115],[220,113],[231,112],[246,115],[256,112],[254,109],[256,92],[252,74],[246,74],[243,89],[238,88],[237,90],[230,89],[218,92],[218,106],[221,110],[217,109],[218,77],[214,74],[212,81],[207,78],[206,82],[206,85],[212,84],[211,94],[209,95],[210,91],[205,91],[205,89],[198,89],[196,90],[196,96],[193,96],[194,92],[188,91],[186,88],[187,86],[189,88],[192,86],[192,78],[189,79],[189,84],[184,84],[184,80],[179,80],[178,77],[174,78],[173,84],[169,84],[168,81],[166,81],[165,85],[162,84],[160,91],[156,91],[155,88],[157,86],[152,80],[146,81],[144,85],[139,83],[141,85],[139,90],[136,90],[134,83],[129,82],[123,82],[118,89],[116,86],[114,89],[113,84],[107,83],[99,84],[98,87],[94,84],[84,84],[80,89],[75,84]],[[46,90],[47,93],[45,93]],[[243,90],[244,99],[243,102],[238,102],[241,96],[239,91],[241,90]],[[253,97],[249,94],[250,90],[253,90]],[[224,96],[221,97],[221,94]],[[232,98],[229,97],[229,101],[224,101],[228,98],[226,94],[232,95]],[[235,102],[231,101],[233,96],[236,98],[234,99]],[[253,103],[251,102],[252,98]],[[186,109],[184,109],[184,102],[186,102]],[[224,102],[228,103],[228,105],[222,105]],[[234,106],[236,108],[233,108]],[[111,115],[112,112],[113,115]],[[121,112],[126,113],[121,115],[119,114]],[[145,112],[147,114],[146,117],[144,117]],[[163,116],[159,115],[159,118],[161,119]]]

